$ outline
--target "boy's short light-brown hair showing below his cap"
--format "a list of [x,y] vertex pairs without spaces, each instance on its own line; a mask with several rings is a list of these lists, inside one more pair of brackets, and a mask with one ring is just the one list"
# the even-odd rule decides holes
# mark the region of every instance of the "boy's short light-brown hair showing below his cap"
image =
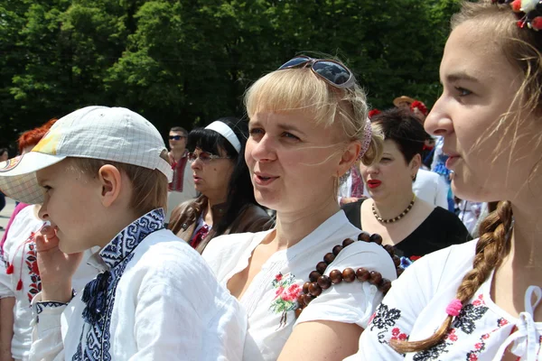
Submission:
[[132,198],[129,207],[138,216],[143,216],[155,208],[167,211],[168,181],[161,171],[151,170],[133,164],[109,162],[92,158],[70,158],[71,165],[89,177],[96,177],[101,167],[113,165],[124,172],[132,182]]

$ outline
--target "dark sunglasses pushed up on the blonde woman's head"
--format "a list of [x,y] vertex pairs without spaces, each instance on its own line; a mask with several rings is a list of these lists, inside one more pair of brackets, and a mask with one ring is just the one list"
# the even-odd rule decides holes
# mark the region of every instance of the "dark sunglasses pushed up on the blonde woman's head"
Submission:
[[335,88],[350,88],[356,83],[356,79],[350,69],[335,60],[313,59],[300,55],[286,61],[278,70],[304,68],[307,66],[311,67],[311,70],[313,70],[316,76],[324,79]]

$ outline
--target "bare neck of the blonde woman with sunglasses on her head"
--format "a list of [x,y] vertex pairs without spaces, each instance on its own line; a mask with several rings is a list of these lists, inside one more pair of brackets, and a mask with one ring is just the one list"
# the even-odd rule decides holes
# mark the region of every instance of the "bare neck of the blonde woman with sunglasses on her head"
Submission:
[[276,251],[299,243],[339,209],[337,199],[330,197],[321,203],[307,205],[303,211],[277,212],[276,235],[273,240]]

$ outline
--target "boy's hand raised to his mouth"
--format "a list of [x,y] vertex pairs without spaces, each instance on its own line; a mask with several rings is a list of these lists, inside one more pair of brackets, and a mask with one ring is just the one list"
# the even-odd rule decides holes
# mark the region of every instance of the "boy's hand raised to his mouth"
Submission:
[[59,248],[59,237],[50,226],[36,233],[34,240],[42,279],[42,301],[69,302],[71,277],[79,267],[83,254],[63,253]]

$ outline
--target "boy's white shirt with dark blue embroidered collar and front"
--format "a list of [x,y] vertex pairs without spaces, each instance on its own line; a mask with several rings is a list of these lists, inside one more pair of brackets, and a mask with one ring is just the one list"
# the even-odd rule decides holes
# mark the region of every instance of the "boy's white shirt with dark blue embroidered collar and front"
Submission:
[[154,209],[89,263],[70,303],[33,300],[33,360],[239,360],[247,319],[201,255]]

